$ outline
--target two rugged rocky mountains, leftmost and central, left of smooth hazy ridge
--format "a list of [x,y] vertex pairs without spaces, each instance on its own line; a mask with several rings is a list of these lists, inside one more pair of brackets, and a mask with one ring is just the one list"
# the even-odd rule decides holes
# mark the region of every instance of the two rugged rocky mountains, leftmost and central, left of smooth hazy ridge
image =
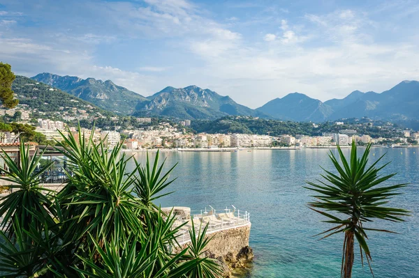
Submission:
[[145,98],[110,80],[103,82],[94,78],[81,79],[47,72],[31,78],[118,114],[211,120],[229,115],[270,118],[261,111],[237,104],[228,96],[197,86],[166,87]]

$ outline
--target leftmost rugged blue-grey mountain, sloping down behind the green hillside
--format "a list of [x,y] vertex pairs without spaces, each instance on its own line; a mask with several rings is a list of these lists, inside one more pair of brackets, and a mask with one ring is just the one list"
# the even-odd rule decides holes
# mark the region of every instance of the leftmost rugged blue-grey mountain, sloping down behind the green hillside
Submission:
[[142,95],[117,86],[110,80],[103,82],[94,78],[81,79],[47,72],[31,78],[118,114],[132,114],[138,102],[148,101]]

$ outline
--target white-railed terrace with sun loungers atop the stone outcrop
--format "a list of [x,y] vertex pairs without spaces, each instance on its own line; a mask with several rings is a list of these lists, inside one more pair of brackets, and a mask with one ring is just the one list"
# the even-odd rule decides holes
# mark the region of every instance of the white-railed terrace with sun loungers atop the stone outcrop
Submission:
[[[223,213],[223,217],[219,217],[221,213]],[[247,210],[240,211],[234,209],[232,211],[228,208],[216,210],[211,206],[210,209],[191,210],[190,218],[182,219],[175,223],[175,226],[180,226],[184,222],[188,222],[176,233],[177,242],[179,242],[180,245],[191,241],[189,235],[189,229],[192,229],[191,221],[193,221],[196,235],[198,236],[199,229],[202,231],[206,224],[208,224],[207,234],[247,225],[250,223],[250,213],[248,213]]]

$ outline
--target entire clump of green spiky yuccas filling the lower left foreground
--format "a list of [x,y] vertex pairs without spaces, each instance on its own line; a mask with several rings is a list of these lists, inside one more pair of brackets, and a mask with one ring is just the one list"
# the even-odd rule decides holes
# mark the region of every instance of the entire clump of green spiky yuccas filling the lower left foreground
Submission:
[[68,133],[62,134],[59,149],[70,163],[68,183],[58,194],[39,187],[39,176],[49,165],[36,172],[39,157],[31,157],[23,144],[20,162],[5,158],[8,176],[3,179],[20,190],[0,206],[6,213],[3,226],[8,227],[0,232],[1,277],[175,278],[192,277],[198,269],[219,273],[218,265],[179,247],[175,216],[154,204],[172,182],[172,169],[163,173],[159,154],[154,164],[147,155],[145,167],[137,163],[128,171],[132,157],[120,153],[120,145],[107,150],[103,140],[85,138],[80,128],[78,137]]

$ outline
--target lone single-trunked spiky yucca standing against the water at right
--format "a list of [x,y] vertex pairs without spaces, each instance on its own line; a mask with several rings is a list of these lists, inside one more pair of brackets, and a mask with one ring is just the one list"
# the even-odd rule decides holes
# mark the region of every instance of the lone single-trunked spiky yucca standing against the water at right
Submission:
[[[321,176],[325,181],[307,182],[311,186],[305,187],[317,193],[313,196],[316,201],[310,202],[308,204],[309,208],[328,217],[328,220],[324,222],[335,224],[334,227],[319,233],[319,235],[324,234],[323,238],[328,238],[336,233],[344,233],[344,252],[341,264],[341,277],[344,278],[352,276],[355,239],[360,245],[362,265],[365,254],[369,269],[372,272],[372,256],[366,241],[368,239],[367,231],[394,233],[385,229],[367,228],[364,225],[366,222],[372,222],[373,219],[402,222],[404,221],[402,217],[409,215],[408,210],[385,206],[389,202],[388,199],[399,194],[397,190],[406,186],[406,184],[381,185],[395,176],[396,173],[386,176],[378,174],[381,169],[388,165],[387,163],[381,167],[376,167],[384,155],[373,164],[368,165],[370,148],[371,144],[367,146],[362,157],[358,157],[355,141],[353,141],[351,158],[348,162],[338,146],[337,150],[341,164],[332,152],[329,155],[337,173],[322,168],[325,174]],[[374,276],[373,272],[372,275]]]

